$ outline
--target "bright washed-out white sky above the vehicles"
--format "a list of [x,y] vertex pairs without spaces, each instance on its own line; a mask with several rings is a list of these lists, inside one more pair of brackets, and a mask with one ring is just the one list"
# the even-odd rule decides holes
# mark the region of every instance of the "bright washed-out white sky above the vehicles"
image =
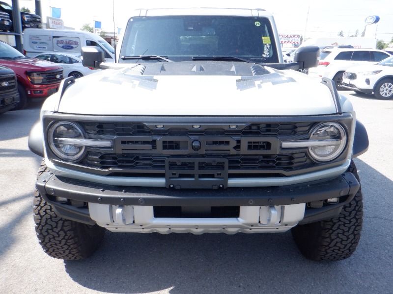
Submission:
[[[380,21],[373,25],[377,39],[390,41],[393,37],[392,0],[113,0],[115,27],[123,28],[131,11],[137,8],[162,7],[239,7],[263,8],[271,12],[279,33],[301,34],[305,39],[359,36],[365,28],[365,18],[378,15]],[[8,0],[10,2],[10,0]],[[196,4],[197,3],[197,4]],[[20,7],[34,11],[33,0],[19,0]],[[50,6],[61,8],[64,25],[80,29],[85,23],[101,21],[105,31],[113,31],[112,0],[41,0],[43,17],[50,16]],[[371,28],[371,27],[370,27]],[[374,33],[376,30],[376,34]]]

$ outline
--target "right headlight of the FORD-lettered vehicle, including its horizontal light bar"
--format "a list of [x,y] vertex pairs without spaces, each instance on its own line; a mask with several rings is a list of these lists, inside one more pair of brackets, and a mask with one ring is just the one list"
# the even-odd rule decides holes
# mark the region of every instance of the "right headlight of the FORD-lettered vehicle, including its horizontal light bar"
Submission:
[[309,140],[283,141],[282,148],[309,148],[316,161],[332,161],[344,150],[347,135],[339,123],[320,123],[311,132]]

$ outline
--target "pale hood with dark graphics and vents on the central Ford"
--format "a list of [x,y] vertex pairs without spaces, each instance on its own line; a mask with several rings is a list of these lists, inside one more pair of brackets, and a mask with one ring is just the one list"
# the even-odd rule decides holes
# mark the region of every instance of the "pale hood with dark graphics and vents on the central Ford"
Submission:
[[[60,91],[61,92],[61,89]],[[293,116],[336,113],[326,85],[244,62],[128,64],[75,81],[59,112],[86,115]]]

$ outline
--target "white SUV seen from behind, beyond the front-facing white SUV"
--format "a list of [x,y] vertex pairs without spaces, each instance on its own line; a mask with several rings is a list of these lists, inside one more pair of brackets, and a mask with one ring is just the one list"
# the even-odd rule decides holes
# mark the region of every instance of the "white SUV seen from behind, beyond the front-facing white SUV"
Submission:
[[310,68],[309,74],[327,77],[335,81],[338,90],[342,90],[342,74],[356,65],[375,64],[391,54],[377,49],[332,48],[321,50],[319,65]]

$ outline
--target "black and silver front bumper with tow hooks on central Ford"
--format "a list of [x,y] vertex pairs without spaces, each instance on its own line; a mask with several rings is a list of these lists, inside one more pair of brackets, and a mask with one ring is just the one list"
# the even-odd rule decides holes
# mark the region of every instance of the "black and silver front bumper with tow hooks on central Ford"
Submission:
[[[59,216],[87,224],[98,223],[112,231],[236,233],[286,231],[297,223],[333,218],[340,213],[343,205],[352,200],[360,184],[352,173],[346,172],[334,179],[290,186],[176,190],[103,185],[45,172],[38,178],[36,186]],[[68,202],[57,202],[58,197],[66,198]],[[305,209],[306,203],[335,197],[339,199],[336,204]],[[88,203],[88,206],[83,206],[83,203]],[[240,215],[215,219],[160,218],[154,217],[156,206],[231,206],[240,207]],[[271,216],[275,211],[279,211],[281,217],[272,222],[266,214]],[[131,215],[132,220],[125,221]],[[262,221],[264,218],[268,221]]]

